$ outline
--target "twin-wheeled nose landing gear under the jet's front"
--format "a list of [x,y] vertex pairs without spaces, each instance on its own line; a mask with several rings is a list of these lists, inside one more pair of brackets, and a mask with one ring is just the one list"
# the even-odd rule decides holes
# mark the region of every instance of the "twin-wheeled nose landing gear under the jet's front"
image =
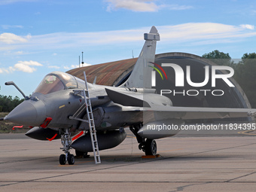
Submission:
[[72,145],[69,129],[65,129],[64,133],[61,135],[61,143],[63,148],[60,149],[62,149],[65,154],[59,156],[59,164],[65,165],[68,161],[69,165],[73,165],[75,163],[75,157],[73,154],[69,153],[69,150],[71,149],[70,145]]

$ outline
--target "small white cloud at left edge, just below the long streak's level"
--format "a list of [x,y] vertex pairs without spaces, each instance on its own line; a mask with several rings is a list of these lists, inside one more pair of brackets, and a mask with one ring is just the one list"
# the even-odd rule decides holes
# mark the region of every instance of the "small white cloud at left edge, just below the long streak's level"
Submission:
[[31,35],[26,35],[25,37],[21,37],[8,32],[4,32],[0,34],[0,42],[2,41],[6,44],[25,43],[29,40],[29,38],[31,38]]

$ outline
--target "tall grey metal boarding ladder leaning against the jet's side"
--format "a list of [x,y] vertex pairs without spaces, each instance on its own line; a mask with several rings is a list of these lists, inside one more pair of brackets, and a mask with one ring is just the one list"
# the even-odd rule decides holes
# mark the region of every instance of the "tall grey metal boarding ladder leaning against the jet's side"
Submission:
[[[101,163],[100,157],[99,157],[99,145],[97,141],[97,136],[96,136],[96,128],[95,128],[95,123],[93,119],[93,109],[92,105],[90,102],[90,94],[88,90],[88,85],[87,85],[87,77],[84,72],[84,83],[85,83],[85,88],[84,91],[84,104],[81,105],[81,108],[78,109],[78,111],[75,112],[75,114],[72,117],[69,117],[70,119],[75,119],[75,120],[81,120],[83,122],[87,122],[89,124],[89,130],[90,130],[90,139],[92,142],[92,147],[93,147],[93,155],[94,155],[94,161],[95,164]],[[81,114],[82,111],[84,111],[84,108],[86,108],[87,111],[87,120],[78,118],[78,115]]]

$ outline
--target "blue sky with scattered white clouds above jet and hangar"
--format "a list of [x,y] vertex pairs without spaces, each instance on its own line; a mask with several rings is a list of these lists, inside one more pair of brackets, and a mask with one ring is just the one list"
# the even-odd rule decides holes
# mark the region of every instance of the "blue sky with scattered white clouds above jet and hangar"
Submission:
[[44,75],[138,56],[143,33],[156,26],[157,53],[239,59],[256,52],[255,1],[0,0],[0,94],[31,94]]

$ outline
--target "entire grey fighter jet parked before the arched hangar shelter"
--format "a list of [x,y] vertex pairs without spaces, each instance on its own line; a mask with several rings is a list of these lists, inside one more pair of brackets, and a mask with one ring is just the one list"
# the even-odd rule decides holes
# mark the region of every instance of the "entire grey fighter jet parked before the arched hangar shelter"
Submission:
[[[31,96],[23,94],[24,102],[2,120],[31,126],[26,136],[33,139],[61,139],[64,154],[59,156],[59,163],[63,165],[75,163],[74,155],[70,154],[72,148],[80,156],[95,148],[100,151],[120,145],[126,138],[124,127],[130,127],[139,149],[146,155],[155,155],[155,139],[174,136],[186,120],[254,116],[256,109],[252,108],[172,106],[169,98],[157,94],[151,87],[160,35],[152,26],[144,38],[145,44],[133,72],[119,87],[87,83],[85,75],[81,80],[65,72],[52,72]],[[174,125],[176,129],[153,129],[160,125]],[[92,133],[96,134],[94,140]]]

